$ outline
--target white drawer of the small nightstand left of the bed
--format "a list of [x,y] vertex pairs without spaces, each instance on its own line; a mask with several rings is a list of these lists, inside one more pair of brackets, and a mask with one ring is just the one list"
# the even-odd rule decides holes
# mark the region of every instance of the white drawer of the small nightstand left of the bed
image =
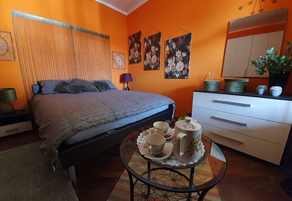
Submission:
[[32,129],[33,129],[33,127],[31,125],[31,121],[5,125],[5,126],[0,127],[0,137],[8,136],[8,135],[11,135],[14,133],[28,131],[28,130],[32,130]]

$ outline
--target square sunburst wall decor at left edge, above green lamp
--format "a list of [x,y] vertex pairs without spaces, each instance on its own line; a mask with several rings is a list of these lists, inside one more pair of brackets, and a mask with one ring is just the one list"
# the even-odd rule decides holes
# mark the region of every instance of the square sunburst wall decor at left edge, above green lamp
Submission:
[[0,31],[0,60],[16,60],[12,36],[9,31]]

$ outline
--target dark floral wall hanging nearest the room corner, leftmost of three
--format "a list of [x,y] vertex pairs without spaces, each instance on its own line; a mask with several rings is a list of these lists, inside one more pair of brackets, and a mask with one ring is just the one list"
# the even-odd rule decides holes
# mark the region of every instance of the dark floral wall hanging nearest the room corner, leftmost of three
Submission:
[[129,36],[129,64],[141,62],[141,31],[139,31]]

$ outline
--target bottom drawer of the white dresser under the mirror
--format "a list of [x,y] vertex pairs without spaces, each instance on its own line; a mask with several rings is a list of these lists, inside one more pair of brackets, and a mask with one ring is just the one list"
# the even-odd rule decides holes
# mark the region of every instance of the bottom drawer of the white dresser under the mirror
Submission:
[[232,149],[277,165],[281,162],[285,146],[220,129],[204,123],[201,124],[203,125],[202,134],[216,143],[231,147]]

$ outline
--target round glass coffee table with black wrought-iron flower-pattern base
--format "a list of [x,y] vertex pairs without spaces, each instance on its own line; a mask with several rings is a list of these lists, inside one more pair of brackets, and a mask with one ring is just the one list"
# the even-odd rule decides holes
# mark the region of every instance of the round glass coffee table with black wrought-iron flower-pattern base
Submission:
[[167,166],[137,155],[137,137],[149,128],[131,132],[120,146],[120,157],[129,175],[130,200],[203,200],[226,173],[222,150],[202,135],[205,153],[197,163]]

